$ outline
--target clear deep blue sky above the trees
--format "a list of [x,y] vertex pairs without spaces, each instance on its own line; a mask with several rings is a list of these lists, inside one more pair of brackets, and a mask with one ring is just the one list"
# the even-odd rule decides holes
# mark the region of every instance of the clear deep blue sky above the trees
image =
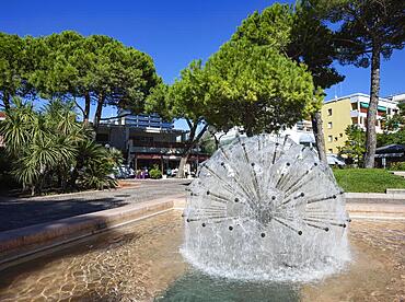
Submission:
[[[193,59],[207,59],[229,39],[250,13],[275,1],[264,0],[9,0],[2,1],[0,31],[48,35],[73,30],[113,36],[152,56],[171,83]],[[286,2],[286,1],[281,1]],[[290,1],[293,2],[293,1]],[[369,69],[336,63],[346,80],[327,97],[368,93]],[[405,93],[405,50],[394,51],[381,68],[381,95]],[[105,115],[111,116],[112,109]]]

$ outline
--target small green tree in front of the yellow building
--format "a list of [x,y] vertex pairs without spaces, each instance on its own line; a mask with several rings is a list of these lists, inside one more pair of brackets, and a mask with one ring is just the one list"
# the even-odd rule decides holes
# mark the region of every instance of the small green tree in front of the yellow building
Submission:
[[347,140],[339,149],[339,154],[356,159],[360,164],[366,152],[366,132],[358,125],[347,126],[345,133]]

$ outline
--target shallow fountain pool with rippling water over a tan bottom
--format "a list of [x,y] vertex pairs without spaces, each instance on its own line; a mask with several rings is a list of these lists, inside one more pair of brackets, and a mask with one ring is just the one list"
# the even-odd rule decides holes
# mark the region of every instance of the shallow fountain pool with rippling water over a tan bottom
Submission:
[[0,272],[0,300],[400,301],[405,297],[404,220],[354,218],[348,233],[354,260],[340,274],[315,282],[248,282],[210,277],[185,263],[178,252],[184,236],[181,214],[169,211],[9,267]]

